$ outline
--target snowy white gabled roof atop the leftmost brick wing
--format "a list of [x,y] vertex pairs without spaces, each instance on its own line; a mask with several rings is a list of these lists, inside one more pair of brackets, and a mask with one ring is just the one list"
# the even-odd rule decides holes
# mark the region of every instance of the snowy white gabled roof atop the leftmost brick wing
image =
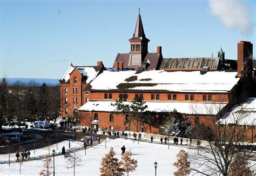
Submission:
[[98,71],[95,70],[95,67],[93,66],[73,66],[71,65],[69,69],[65,72],[65,75],[62,77],[62,81],[65,79],[65,82],[68,82],[70,79],[70,73],[75,70],[79,71],[79,73],[83,74],[83,76],[87,77],[86,83],[90,83],[91,80],[93,80],[96,76]]

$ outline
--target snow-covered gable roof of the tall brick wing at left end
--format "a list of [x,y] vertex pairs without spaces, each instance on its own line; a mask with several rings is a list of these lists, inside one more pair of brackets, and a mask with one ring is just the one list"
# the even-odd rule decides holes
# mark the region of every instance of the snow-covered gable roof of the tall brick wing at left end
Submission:
[[70,74],[77,69],[78,72],[87,77],[86,84],[90,83],[92,79],[94,79],[97,75],[100,69],[102,69],[102,66],[73,66],[70,65],[69,69],[65,72],[62,79],[60,79],[60,82],[69,83]]

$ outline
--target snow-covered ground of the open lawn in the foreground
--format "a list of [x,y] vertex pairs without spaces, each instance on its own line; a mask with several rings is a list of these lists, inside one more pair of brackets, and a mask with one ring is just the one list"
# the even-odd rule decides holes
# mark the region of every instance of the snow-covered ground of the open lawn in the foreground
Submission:
[[[67,142],[64,142],[67,143]],[[121,158],[121,147],[125,145],[126,151],[132,150],[132,158],[138,160],[137,170],[130,175],[154,175],[154,162],[157,161],[157,175],[173,175],[173,172],[177,170],[173,166],[173,163],[177,160],[176,155],[180,150],[180,147],[170,146],[168,150],[167,145],[160,144],[150,144],[140,142],[139,145],[137,141],[125,140],[122,138],[117,139],[107,139],[105,149],[105,143],[101,143],[97,146],[89,148],[86,150],[86,155],[84,151],[79,151],[76,155],[80,155],[83,166],[76,167],[76,175],[100,175],[99,167],[102,157],[109,152],[110,147],[114,148],[116,152],[116,157]],[[59,148],[62,147],[61,145]],[[44,152],[43,152],[44,150]],[[52,150],[52,149],[51,149]],[[188,153],[192,150],[185,149]],[[32,152],[31,152],[32,153]],[[38,153],[41,153],[39,150]],[[45,148],[42,149],[42,153],[48,153]],[[2,158],[2,156],[1,156]],[[63,155],[55,157],[55,173],[56,175],[72,175],[73,170],[68,170],[66,168],[67,159]],[[18,175],[19,174],[19,164],[12,163],[9,167],[8,164],[0,165],[0,175]],[[43,169],[43,160],[33,160],[24,162],[22,165],[21,173],[23,175],[38,175],[38,173]]]

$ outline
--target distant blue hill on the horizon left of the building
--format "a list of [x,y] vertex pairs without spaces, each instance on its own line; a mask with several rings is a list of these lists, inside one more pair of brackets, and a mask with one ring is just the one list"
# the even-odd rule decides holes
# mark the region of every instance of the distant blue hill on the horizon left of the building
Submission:
[[[41,86],[43,83],[49,86],[58,85],[59,79],[48,79],[48,78],[6,78],[6,81],[9,85],[14,84],[19,81],[23,84],[29,84],[30,80],[33,80],[37,83],[38,86]],[[2,81],[2,78],[1,78]]]

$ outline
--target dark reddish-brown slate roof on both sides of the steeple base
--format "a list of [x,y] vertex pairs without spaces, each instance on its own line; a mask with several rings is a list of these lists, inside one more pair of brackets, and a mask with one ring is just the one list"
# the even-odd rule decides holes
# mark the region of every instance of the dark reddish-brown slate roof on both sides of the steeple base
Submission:
[[[129,53],[117,53],[117,57],[114,62],[123,62],[124,69],[137,70],[138,66],[136,65],[128,66],[129,56]],[[158,70],[161,62],[160,55],[158,55],[157,53],[147,53],[145,58],[142,60],[142,63],[146,62],[146,60],[149,61],[149,66],[147,66],[146,70]]]

